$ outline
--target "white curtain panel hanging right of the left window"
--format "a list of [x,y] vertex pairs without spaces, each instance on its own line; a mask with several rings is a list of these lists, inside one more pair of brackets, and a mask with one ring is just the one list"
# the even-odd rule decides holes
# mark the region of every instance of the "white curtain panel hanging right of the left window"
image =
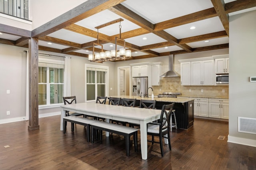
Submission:
[[70,61],[71,61],[71,57],[65,56],[64,96],[71,96],[71,88],[70,88]]

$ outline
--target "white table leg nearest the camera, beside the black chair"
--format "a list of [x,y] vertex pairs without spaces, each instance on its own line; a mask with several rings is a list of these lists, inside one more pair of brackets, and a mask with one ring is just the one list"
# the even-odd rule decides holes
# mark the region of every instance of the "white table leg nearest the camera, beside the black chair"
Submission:
[[146,160],[148,158],[148,141],[147,141],[147,123],[140,121],[140,147],[141,157]]

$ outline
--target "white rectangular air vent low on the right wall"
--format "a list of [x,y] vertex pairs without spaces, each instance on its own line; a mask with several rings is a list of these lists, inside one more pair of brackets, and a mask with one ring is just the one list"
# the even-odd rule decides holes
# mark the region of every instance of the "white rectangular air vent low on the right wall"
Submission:
[[238,117],[238,132],[256,134],[256,119]]

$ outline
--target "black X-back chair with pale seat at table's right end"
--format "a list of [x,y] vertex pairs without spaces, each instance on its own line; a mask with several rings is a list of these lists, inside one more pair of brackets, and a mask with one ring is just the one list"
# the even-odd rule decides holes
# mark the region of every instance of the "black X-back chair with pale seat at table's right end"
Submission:
[[[152,122],[147,124],[147,134],[152,136],[152,140],[148,140],[148,142],[151,142],[152,145],[154,143],[160,144],[162,157],[164,156],[162,138],[166,138],[168,140],[169,149],[172,150],[169,131],[170,131],[170,117],[171,117],[173,106],[174,106],[174,103],[169,105],[163,105],[160,119],[157,122]],[[167,137],[164,136],[166,134],[167,134]],[[154,141],[154,136],[159,137],[159,142]]]

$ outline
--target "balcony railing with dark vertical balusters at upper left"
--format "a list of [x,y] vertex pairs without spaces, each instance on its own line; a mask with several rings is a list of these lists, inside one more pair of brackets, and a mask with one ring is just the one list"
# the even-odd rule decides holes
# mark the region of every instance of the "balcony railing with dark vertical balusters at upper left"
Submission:
[[28,0],[0,0],[0,13],[28,20]]

